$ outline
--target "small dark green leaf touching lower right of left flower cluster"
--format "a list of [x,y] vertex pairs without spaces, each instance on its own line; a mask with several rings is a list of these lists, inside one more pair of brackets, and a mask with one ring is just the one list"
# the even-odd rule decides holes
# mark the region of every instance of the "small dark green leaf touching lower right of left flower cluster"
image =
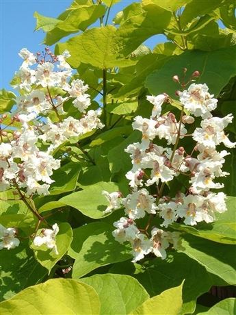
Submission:
[[50,194],[63,194],[75,190],[81,166],[78,163],[70,162],[53,172],[52,179],[55,183],[51,185]]

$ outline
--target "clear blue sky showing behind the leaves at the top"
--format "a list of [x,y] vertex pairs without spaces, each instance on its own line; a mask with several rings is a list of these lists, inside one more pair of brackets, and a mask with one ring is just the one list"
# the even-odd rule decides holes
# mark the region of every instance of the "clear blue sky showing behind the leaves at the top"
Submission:
[[[137,1],[137,0],[136,0]],[[110,22],[117,12],[134,1],[120,1],[112,7]],[[21,48],[29,51],[42,51],[43,31],[34,31],[36,19],[35,11],[44,15],[57,17],[70,6],[72,0],[0,0],[1,5],[1,88],[12,90],[9,85],[15,71],[21,65],[18,57]],[[165,41],[165,36],[157,35],[149,38],[146,45],[153,48],[157,42]]]

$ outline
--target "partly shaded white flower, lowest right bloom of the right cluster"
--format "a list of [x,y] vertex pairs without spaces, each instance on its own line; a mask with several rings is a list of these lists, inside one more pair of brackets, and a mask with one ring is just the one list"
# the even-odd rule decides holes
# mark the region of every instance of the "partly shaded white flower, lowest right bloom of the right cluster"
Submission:
[[152,252],[157,257],[161,257],[161,259],[164,260],[166,258],[166,249],[169,247],[169,242],[167,240],[168,233],[155,227],[152,229],[151,235]]

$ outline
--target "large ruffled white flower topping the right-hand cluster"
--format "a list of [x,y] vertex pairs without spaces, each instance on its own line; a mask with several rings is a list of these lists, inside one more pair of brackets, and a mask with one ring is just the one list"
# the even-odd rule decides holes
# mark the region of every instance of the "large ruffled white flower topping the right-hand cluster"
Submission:
[[185,109],[194,114],[196,117],[211,117],[211,111],[217,106],[217,99],[208,92],[206,84],[191,84],[187,90],[180,93],[180,101]]

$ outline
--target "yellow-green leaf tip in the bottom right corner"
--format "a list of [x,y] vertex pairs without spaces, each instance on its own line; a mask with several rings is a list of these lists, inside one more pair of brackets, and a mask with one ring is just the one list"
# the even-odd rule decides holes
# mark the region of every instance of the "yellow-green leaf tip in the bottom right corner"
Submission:
[[233,297],[224,299],[213,305],[207,312],[198,313],[198,315],[230,315],[236,312],[236,299]]

